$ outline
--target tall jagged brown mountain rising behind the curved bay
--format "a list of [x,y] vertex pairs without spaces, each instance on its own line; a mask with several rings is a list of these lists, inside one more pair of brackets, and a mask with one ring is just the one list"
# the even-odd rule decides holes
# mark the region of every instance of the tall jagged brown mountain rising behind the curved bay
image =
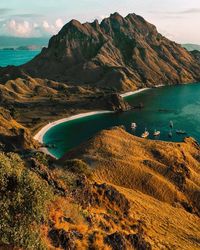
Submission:
[[100,24],[70,21],[23,70],[33,77],[120,91],[200,79],[200,64],[190,52],[141,16],[118,13]]

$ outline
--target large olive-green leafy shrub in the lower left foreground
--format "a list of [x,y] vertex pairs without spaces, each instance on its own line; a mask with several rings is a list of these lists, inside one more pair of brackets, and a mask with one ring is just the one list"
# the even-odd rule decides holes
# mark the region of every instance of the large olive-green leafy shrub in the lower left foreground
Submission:
[[40,225],[53,194],[17,154],[0,153],[0,244],[45,249]]

